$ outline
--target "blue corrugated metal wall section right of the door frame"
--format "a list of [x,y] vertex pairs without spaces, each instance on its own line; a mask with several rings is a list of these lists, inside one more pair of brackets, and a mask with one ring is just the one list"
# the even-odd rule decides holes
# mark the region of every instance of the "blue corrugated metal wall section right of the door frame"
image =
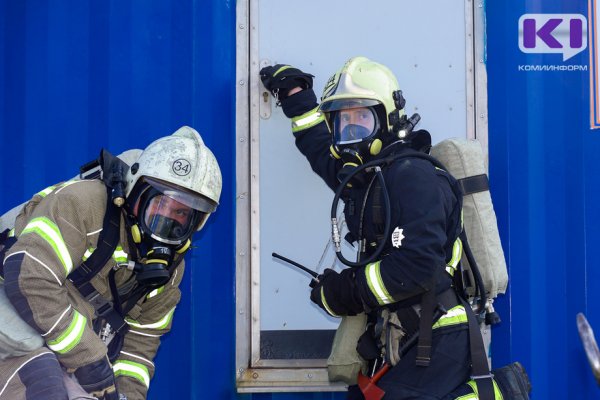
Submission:
[[497,302],[494,363],[523,362],[536,400],[600,398],[575,323],[585,312],[600,330],[600,132],[589,127],[589,76],[519,69],[587,66],[589,48],[563,62],[518,45],[521,15],[588,16],[588,2],[486,7],[490,180],[511,279]]

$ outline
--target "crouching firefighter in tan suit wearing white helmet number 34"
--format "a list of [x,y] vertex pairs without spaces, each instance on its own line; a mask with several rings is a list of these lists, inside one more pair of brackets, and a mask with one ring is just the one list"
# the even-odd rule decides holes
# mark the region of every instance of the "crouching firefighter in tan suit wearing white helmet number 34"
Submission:
[[218,205],[221,172],[189,127],[151,143],[131,168],[111,169],[38,193],[17,217],[6,295],[45,345],[0,363],[0,399],[66,399],[57,367],[99,399],[146,398],[181,297],[183,257]]

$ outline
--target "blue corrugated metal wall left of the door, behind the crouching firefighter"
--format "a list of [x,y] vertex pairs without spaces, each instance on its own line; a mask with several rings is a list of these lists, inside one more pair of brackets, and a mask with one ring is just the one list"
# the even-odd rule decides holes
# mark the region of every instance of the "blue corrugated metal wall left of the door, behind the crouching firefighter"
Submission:
[[152,399],[236,397],[234,27],[233,1],[0,1],[0,210],[182,125],[220,162]]

